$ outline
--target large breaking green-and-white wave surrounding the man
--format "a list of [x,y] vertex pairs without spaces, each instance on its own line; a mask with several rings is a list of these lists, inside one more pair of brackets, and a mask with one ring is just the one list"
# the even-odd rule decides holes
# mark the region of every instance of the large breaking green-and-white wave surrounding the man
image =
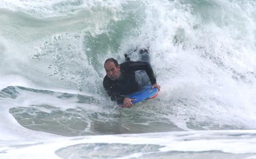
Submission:
[[[1,70],[6,77],[2,88],[11,85],[31,88],[34,83],[50,90],[66,88],[93,97],[97,94],[102,99],[97,106],[106,112],[90,114],[102,118],[95,124],[88,122],[88,127],[102,128],[100,133],[103,134],[255,129],[255,2],[2,2],[0,8],[5,10],[2,16],[5,23],[1,25],[5,30],[1,34],[8,40],[1,41],[4,47],[0,45],[0,49],[10,62],[5,66],[7,70]],[[15,27],[26,29],[16,30]],[[30,34],[23,36],[24,32]],[[115,104],[102,87],[105,75],[102,64],[109,57],[122,62],[124,52],[134,48],[149,49],[162,89],[153,101],[142,102],[133,109],[113,111]],[[133,54],[131,58],[138,60],[138,57]],[[20,58],[25,60],[21,62]],[[46,112],[50,119],[54,116],[52,108],[44,104],[58,105],[64,109],[62,111],[69,109],[69,105],[62,105],[62,100],[53,100],[58,103],[54,104],[48,102],[49,99],[55,97],[46,97],[40,101],[42,103],[37,103],[24,96],[24,101],[30,102],[24,105],[37,105],[32,116]],[[87,99],[80,100],[85,101]],[[70,98],[71,107],[72,102],[75,101]],[[12,112],[17,118],[31,111],[27,108],[12,110],[18,111]],[[75,109],[73,115],[78,114]],[[116,121],[118,115],[121,122]],[[115,126],[121,129],[116,130]],[[33,125],[29,127],[32,129]]]

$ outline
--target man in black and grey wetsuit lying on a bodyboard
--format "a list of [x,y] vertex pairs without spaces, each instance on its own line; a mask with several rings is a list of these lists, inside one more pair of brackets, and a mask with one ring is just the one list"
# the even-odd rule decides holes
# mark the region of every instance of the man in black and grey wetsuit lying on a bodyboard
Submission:
[[156,87],[160,91],[160,86],[156,83],[154,72],[150,66],[148,50],[140,50],[141,61],[130,61],[125,55],[126,62],[118,64],[114,58],[109,58],[104,63],[106,76],[103,80],[104,89],[111,100],[117,103],[124,103],[125,107],[132,107],[132,101],[126,94],[135,92],[138,88],[147,85],[149,82],[152,88]]

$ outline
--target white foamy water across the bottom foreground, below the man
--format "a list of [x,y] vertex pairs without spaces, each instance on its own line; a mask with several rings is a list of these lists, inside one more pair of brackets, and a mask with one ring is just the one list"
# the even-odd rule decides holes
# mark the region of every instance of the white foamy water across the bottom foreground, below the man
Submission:
[[[255,158],[255,131],[187,131],[60,137],[1,143],[3,158]],[[238,149],[238,147],[243,148]]]

